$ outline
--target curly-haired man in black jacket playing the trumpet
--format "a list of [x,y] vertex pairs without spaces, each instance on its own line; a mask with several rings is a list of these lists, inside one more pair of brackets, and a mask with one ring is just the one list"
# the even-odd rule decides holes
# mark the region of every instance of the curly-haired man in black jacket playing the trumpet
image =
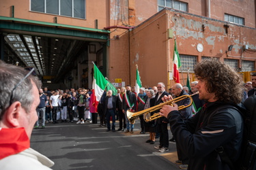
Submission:
[[203,109],[182,120],[176,104],[165,105],[160,115],[169,119],[176,141],[188,155],[188,169],[231,169],[216,149],[223,147],[235,165],[241,152],[243,121],[240,112],[231,106],[237,107],[242,101],[240,75],[216,59],[202,61],[194,71],[199,80],[199,99],[206,101]]

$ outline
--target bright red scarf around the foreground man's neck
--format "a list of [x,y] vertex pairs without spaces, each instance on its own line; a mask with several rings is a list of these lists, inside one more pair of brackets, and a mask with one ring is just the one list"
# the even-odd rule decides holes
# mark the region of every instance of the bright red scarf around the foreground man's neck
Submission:
[[29,137],[24,128],[0,128],[0,160],[7,156],[18,154],[30,148]]

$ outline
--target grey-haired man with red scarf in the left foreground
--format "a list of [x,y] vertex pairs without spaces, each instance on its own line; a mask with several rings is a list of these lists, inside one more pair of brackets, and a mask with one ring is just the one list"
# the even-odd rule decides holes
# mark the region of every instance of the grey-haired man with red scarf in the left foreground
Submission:
[[49,169],[53,161],[30,147],[38,120],[41,83],[21,67],[0,61],[0,167],[1,169]]

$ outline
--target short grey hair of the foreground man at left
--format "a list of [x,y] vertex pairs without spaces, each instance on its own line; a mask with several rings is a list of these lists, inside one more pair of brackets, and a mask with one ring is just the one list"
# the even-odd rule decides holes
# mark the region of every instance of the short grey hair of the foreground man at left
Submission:
[[[38,90],[41,88],[42,84],[37,77],[29,75],[25,78],[29,71],[25,70],[22,67],[15,65],[6,64],[3,61],[0,61],[0,120],[3,118],[5,110],[10,107],[10,104],[15,101],[20,101],[23,109],[28,113],[30,112],[31,105],[34,101],[33,93],[33,84],[37,86]],[[13,91],[14,87],[23,80]],[[10,99],[12,97],[12,99]]]

